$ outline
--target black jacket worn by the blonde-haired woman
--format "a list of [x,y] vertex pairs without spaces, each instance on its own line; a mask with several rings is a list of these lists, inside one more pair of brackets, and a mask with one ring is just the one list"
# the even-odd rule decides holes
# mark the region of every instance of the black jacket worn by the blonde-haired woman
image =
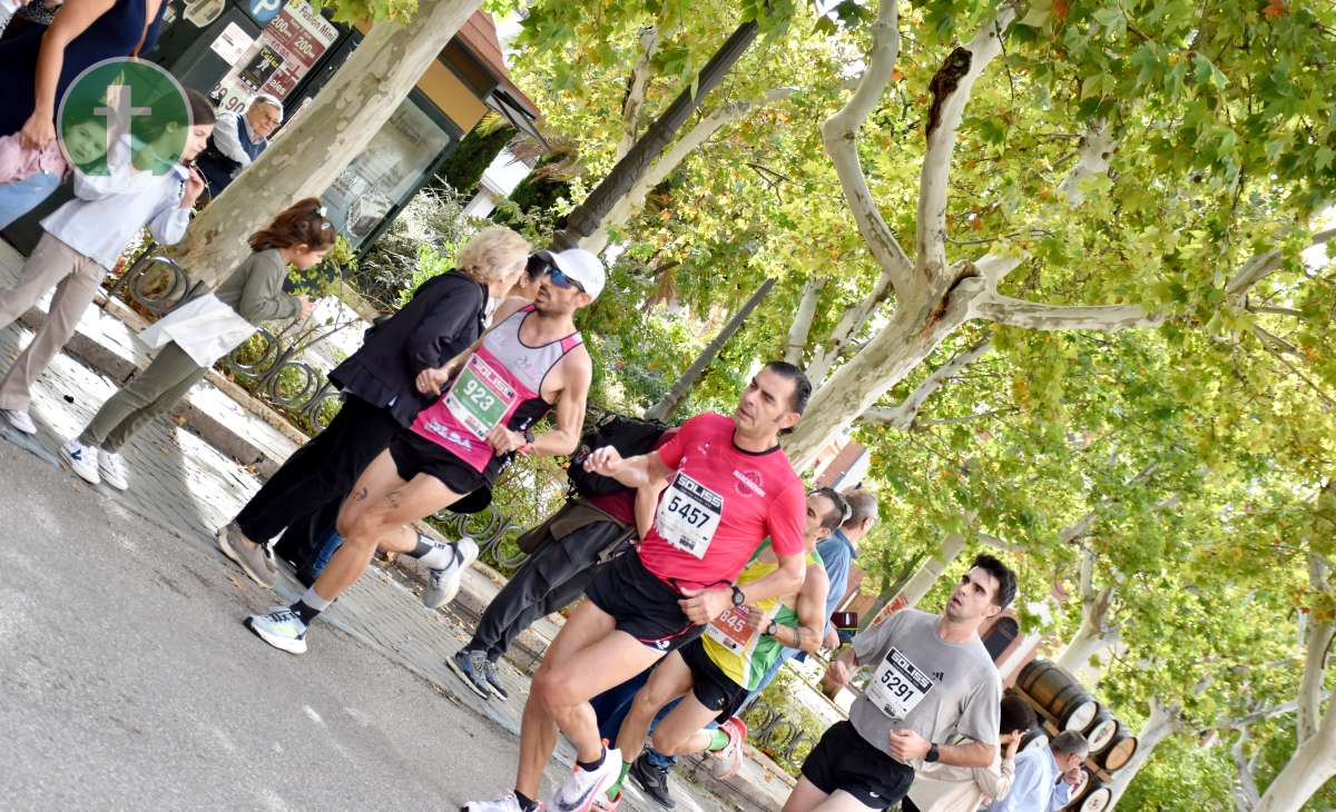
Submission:
[[[438,367],[482,335],[488,288],[458,271],[433,276],[393,318],[367,331],[362,349],[329,378],[345,394],[389,410],[401,426],[436,398],[417,390],[417,375]],[[394,402],[390,406],[390,402]]]

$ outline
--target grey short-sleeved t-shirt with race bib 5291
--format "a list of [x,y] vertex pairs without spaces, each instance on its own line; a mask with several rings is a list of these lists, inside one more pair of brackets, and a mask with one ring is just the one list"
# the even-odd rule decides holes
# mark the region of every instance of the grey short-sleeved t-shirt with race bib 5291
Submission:
[[908,728],[929,741],[953,736],[997,744],[1002,678],[983,641],[946,642],[939,616],[902,609],[854,638],[859,665],[872,680],[854,700],[848,720],[890,756],[892,731]]

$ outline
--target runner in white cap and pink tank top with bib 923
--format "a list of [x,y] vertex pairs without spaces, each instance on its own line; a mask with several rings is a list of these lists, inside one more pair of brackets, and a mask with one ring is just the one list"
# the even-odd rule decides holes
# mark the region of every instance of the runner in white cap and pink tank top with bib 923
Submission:
[[[377,548],[433,570],[428,604],[452,600],[468,565],[461,545],[420,536],[411,522],[490,486],[514,454],[574,451],[593,366],[572,317],[603,291],[604,270],[581,248],[540,255],[550,266],[533,304],[508,299],[462,359],[418,375],[421,391],[446,391],[358,478],[339,510],[343,546],[302,600],[246,620],[265,642],[305,652],[307,626],[362,576]],[[553,409],[553,429],[534,434]]]

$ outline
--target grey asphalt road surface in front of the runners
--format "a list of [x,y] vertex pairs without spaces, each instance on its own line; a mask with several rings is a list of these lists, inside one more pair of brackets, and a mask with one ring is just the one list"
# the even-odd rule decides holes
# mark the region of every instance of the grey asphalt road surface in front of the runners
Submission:
[[[0,442],[0,797],[36,808],[456,808],[514,739],[335,629],[293,657],[206,545]],[[553,768],[552,776],[560,779]]]

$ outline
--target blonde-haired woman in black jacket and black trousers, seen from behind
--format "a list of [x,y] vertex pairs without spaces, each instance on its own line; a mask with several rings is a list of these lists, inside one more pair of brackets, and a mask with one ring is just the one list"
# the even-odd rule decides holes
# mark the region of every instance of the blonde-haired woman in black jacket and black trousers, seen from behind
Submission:
[[274,565],[266,545],[282,533],[275,552],[297,566],[302,581],[314,580],[306,565],[333,530],[343,495],[395,431],[436,399],[436,389],[422,386],[422,373],[482,335],[528,256],[529,243],[514,231],[480,231],[460,248],[454,270],[424,282],[393,318],[369,330],[362,349],[329,374],[343,393],[343,407],[218,529],[219,549],[269,586]]

